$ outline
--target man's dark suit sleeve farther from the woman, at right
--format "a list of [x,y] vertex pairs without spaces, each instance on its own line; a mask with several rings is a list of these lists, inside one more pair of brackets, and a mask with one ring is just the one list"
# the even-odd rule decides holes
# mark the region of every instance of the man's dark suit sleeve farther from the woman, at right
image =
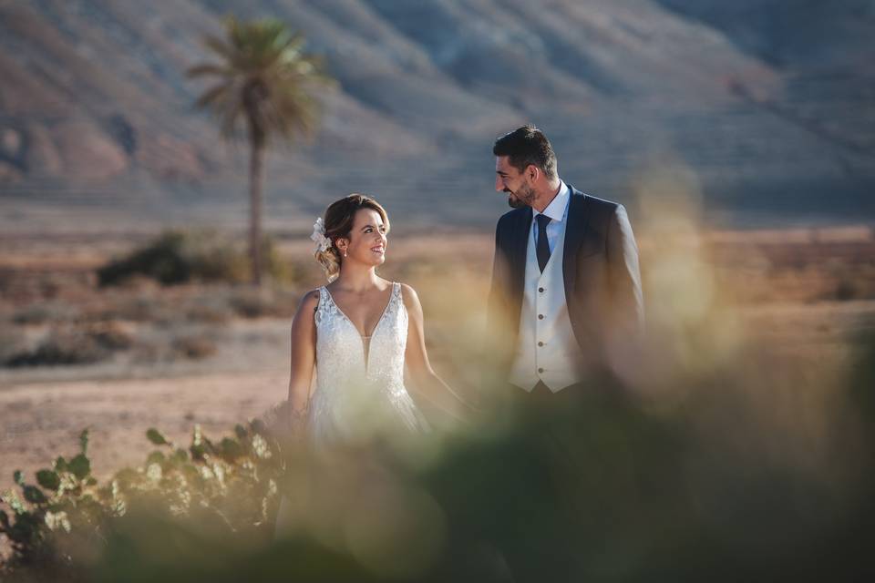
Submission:
[[644,332],[638,245],[623,205],[618,205],[608,227],[608,270],[611,314],[607,348],[609,362],[616,371],[638,362]]

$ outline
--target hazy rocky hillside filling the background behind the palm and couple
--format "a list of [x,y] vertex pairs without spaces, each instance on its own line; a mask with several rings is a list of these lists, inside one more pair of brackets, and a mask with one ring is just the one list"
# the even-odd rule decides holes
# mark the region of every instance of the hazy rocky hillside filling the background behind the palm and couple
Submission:
[[353,190],[488,226],[491,142],[527,121],[593,194],[658,196],[669,168],[715,220],[875,216],[863,0],[0,0],[0,222],[235,223],[245,145],[184,74],[229,13],[301,29],[339,80],[318,138],[273,153],[274,227]]

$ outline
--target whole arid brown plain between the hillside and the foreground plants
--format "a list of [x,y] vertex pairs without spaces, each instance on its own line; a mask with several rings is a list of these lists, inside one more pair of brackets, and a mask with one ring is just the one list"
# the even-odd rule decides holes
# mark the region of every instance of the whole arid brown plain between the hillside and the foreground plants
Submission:
[[[262,292],[139,280],[98,288],[94,270],[146,238],[0,236],[0,489],[15,469],[31,475],[75,452],[86,427],[95,473],[108,476],[145,459],[149,427],[180,442],[194,424],[222,435],[284,398],[291,317],[321,283],[305,238],[281,241],[293,280]],[[705,338],[731,328],[744,342],[842,371],[855,340],[875,330],[870,228],[654,230],[640,246],[657,332],[674,320],[705,326]],[[432,360],[463,392],[488,350],[478,339],[491,254],[483,234],[407,235],[392,240],[382,270],[417,287]],[[55,356],[39,352],[48,344]],[[40,362],[58,354],[75,362]]]

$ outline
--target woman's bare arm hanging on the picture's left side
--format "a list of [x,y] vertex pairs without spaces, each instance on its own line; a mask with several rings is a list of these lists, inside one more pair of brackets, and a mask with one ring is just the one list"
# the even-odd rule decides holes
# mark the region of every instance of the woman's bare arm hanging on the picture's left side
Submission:
[[304,427],[310,384],[316,360],[316,324],[314,312],[319,292],[308,292],[301,300],[292,321],[292,371],[289,375],[289,414],[291,430],[298,434]]

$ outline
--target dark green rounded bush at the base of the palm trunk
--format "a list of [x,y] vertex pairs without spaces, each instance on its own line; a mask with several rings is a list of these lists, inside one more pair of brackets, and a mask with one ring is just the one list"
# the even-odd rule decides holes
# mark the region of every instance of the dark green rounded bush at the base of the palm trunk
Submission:
[[[109,261],[98,269],[101,286],[118,285],[146,277],[163,285],[223,281],[249,281],[249,258],[242,245],[215,230],[166,230],[158,238]],[[290,266],[280,256],[273,239],[262,240],[262,271],[273,281],[292,280]]]

